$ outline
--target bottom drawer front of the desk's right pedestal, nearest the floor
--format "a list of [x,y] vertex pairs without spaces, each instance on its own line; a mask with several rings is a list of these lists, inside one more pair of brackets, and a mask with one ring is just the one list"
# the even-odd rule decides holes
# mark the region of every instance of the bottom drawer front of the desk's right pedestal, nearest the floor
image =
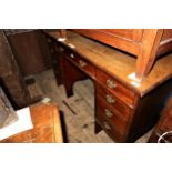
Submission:
[[97,111],[95,120],[114,141],[124,142],[127,129],[123,121],[119,119],[110,121],[99,110]]

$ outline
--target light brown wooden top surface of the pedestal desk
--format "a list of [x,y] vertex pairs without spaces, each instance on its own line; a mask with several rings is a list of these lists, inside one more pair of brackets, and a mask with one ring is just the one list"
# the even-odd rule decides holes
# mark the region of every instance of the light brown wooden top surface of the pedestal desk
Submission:
[[[44,32],[59,41],[60,34],[58,31],[49,30]],[[94,65],[114,75],[141,97],[172,77],[172,53],[156,60],[150,74],[144,80],[136,81],[133,78],[136,65],[135,57],[71,31],[67,32],[67,40],[61,41],[61,43],[80,53]],[[74,48],[71,48],[71,45]]]

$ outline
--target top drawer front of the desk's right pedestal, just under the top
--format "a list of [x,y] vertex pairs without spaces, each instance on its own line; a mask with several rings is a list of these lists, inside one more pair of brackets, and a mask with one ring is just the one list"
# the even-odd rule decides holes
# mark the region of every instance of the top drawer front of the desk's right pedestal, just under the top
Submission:
[[128,90],[122,83],[117,81],[114,78],[104,73],[103,71],[97,70],[97,80],[100,84],[102,84],[110,92],[112,92],[117,98],[130,105],[134,105],[135,94],[132,91]]

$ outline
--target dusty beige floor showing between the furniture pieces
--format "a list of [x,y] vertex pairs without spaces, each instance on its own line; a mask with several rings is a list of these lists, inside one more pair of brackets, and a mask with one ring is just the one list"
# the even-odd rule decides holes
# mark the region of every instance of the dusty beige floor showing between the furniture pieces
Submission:
[[[70,143],[114,143],[104,131],[94,134],[94,87],[91,80],[78,81],[73,85],[74,95],[67,98],[64,87],[58,87],[52,70],[34,75],[43,93],[39,103],[57,103],[64,114]],[[151,131],[136,140],[146,143]]]

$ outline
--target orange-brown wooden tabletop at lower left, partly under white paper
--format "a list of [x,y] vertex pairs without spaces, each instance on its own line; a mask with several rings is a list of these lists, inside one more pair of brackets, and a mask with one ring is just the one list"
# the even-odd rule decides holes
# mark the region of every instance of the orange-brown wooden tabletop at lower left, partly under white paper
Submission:
[[30,112],[33,129],[9,136],[0,141],[1,143],[63,142],[60,114],[55,104],[32,107]]

